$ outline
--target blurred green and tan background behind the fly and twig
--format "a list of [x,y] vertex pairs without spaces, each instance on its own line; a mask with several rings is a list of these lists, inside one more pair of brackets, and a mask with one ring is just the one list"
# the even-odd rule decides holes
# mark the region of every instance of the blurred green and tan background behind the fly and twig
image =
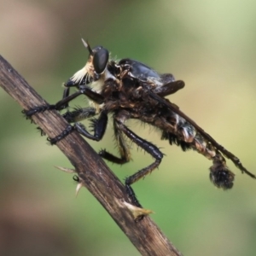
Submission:
[[[183,79],[171,101],[256,173],[255,1],[1,1],[1,55],[48,102],[84,66],[83,37]],[[53,167],[71,164],[20,111],[0,90],[0,254],[139,255],[86,189],[75,197],[72,176]],[[255,181],[228,161],[235,187],[215,189],[210,161],[129,125],[166,154],[133,188],[173,244],[184,255],[255,255]],[[112,136],[108,129],[90,144],[116,152]],[[109,165],[121,180],[152,162],[136,146],[132,155],[126,166]]]

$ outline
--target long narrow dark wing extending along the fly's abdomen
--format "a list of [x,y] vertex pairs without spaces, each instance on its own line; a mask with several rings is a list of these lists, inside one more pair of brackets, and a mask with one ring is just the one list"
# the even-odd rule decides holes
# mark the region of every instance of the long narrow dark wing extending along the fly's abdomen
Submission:
[[241,165],[241,161],[236,157],[235,154],[232,154],[230,151],[225,149],[223,146],[218,144],[206,131],[204,131],[199,125],[195,123],[192,119],[190,119],[185,113],[183,113],[175,104],[170,102],[169,100],[166,100],[165,98],[162,98],[161,96],[155,94],[153,91],[148,90],[148,96],[150,96],[152,99],[154,99],[157,102],[160,102],[160,104],[166,106],[166,108],[171,109],[174,113],[177,113],[179,116],[181,116],[183,119],[189,122],[189,124],[193,125],[197,131],[201,133],[201,136],[207,139],[209,143],[212,144],[213,147],[215,147],[218,151],[220,151],[224,156],[226,156],[228,159],[230,159],[235,166],[241,170],[241,172],[247,173],[248,176],[256,178],[256,176],[248,172],[247,169]]

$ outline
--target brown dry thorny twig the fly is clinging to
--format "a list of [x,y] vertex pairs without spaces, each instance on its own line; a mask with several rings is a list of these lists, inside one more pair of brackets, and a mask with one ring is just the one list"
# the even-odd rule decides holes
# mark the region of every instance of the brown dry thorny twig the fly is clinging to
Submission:
[[[46,103],[1,55],[0,85],[21,108],[29,109]],[[59,135],[67,127],[66,120],[56,111],[36,113],[32,119],[49,137]],[[181,255],[149,217],[134,221],[127,207],[130,201],[124,185],[76,131],[57,143],[57,146],[74,166],[79,182],[90,190],[140,253]]]

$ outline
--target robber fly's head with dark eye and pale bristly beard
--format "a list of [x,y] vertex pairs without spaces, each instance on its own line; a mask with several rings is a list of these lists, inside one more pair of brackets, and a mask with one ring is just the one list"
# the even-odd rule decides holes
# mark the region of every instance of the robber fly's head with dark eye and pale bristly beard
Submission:
[[91,49],[90,44],[85,42],[84,39],[82,41],[85,48],[89,51],[88,60],[85,66],[64,84],[67,87],[87,85],[101,79],[105,80],[106,77],[109,59],[108,49],[102,46],[96,46]]

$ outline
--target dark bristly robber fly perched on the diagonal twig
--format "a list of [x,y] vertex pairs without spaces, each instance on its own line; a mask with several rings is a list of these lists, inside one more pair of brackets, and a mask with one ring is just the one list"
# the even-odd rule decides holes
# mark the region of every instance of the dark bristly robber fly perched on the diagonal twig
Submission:
[[[109,58],[108,49],[102,46],[90,48],[87,42],[84,46],[89,51],[85,66],[68,79],[65,85],[63,98],[53,105],[38,106],[25,110],[27,117],[45,110],[61,110],[68,107],[68,103],[80,95],[87,96],[94,107],[75,108],[62,114],[68,125],[59,136],[49,139],[55,144],[72,131],[79,131],[89,139],[100,141],[108,125],[108,115],[112,114],[113,133],[118,146],[119,156],[102,149],[99,154],[102,158],[116,164],[125,164],[131,160],[130,148],[126,139],[143,148],[154,158],[154,162],[142,170],[125,178],[125,188],[131,201],[141,207],[137,197],[131,189],[131,184],[137,182],[160,165],[163,154],[153,143],[138,137],[131,131],[125,122],[128,119],[139,119],[144,123],[153,125],[161,131],[161,139],[180,146],[183,151],[193,149],[212,160],[210,167],[210,180],[221,189],[231,189],[235,174],[226,166],[224,157],[230,159],[241,172],[256,178],[253,173],[241,165],[240,160],[230,151],[218,144],[207,132],[203,131],[195,121],[184,114],[177,105],[166,99],[184,87],[184,82],[175,80],[170,73],[156,73],[154,69],[143,63],[131,59],[113,61]],[[76,92],[70,95],[70,88],[75,87]],[[86,130],[79,123],[80,120],[89,119],[92,132]]]

